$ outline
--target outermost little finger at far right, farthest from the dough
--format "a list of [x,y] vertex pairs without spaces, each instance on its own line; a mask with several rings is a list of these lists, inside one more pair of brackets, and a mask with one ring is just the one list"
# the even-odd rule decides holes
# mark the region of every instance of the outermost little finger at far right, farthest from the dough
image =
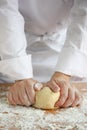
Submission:
[[82,102],[82,97],[78,90],[75,91],[75,100],[72,103],[72,107],[80,105]]

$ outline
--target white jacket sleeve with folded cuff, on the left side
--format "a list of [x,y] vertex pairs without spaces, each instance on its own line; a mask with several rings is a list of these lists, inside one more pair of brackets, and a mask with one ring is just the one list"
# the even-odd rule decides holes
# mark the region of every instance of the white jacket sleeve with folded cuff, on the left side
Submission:
[[0,73],[13,80],[31,78],[31,55],[26,53],[24,19],[18,0],[0,0]]

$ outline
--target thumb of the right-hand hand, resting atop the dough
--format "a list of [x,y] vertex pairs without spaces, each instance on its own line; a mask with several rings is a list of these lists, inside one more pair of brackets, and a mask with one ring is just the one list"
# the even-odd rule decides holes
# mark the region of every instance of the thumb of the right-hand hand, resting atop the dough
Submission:
[[59,86],[56,84],[54,80],[51,80],[47,82],[47,86],[53,91],[53,92],[58,92],[60,91]]

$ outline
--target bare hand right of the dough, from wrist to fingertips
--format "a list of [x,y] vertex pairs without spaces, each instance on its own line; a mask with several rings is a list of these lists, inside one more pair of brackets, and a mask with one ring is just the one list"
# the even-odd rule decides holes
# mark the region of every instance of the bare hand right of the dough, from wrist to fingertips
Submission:
[[70,84],[70,76],[55,72],[47,86],[54,92],[60,91],[60,98],[56,102],[56,107],[74,107],[80,105],[82,97],[80,92]]

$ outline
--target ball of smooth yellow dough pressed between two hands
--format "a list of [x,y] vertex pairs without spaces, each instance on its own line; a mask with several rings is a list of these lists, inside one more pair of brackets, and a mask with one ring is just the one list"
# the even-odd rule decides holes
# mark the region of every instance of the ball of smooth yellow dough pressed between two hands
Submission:
[[34,107],[41,109],[56,109],[54,107],[58,101],[60,92],[54,93],[49,87],[44,87],[36,92],[36,103]]

